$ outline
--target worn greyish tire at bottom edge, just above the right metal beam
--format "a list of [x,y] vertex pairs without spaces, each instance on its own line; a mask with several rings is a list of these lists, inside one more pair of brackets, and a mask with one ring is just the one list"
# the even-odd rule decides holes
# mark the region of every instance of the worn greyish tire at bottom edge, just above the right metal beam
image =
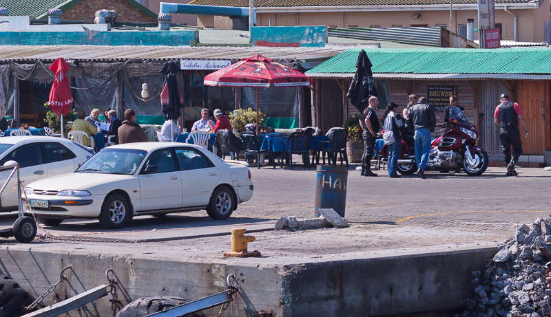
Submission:
[[[116,314],[116,317],[134,317],[134,316],[147,316],[154,314],[165,309],[182,305],[186,303],[185,299],[172,296],[156,296],[156,297],[143,297],[138,298],[132,303],[128,303],[121,311]],[[196,312],[194,314],[187,314],[185,316],[190,317],[205,317],[202,312]]]

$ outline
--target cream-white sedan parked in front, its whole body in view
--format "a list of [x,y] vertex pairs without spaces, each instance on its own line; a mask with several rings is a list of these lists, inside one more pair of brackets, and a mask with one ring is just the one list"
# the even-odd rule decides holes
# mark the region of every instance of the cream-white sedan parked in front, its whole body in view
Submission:
[[74,173],[28,184],[25,193],[25,213],[32,208],[46,225],[98,218],[106,228],[121,228],[137,215],[202,209],[227,219],[251,199],[253,183],[249,168],[200,146],[141,142],[105,148]]

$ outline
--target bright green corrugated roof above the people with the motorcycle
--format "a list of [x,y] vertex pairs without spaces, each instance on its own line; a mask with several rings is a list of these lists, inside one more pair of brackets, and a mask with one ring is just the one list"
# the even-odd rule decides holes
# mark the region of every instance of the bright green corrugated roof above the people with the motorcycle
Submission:
[[[306,74],[355,73],[353,48],[310,69]],[[364,49],[373,73],[394,74],[551,74],[551,49]]]

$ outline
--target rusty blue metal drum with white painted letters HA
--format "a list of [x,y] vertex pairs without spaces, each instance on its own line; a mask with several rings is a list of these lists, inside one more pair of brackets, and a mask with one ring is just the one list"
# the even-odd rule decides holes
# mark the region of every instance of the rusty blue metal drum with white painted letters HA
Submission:
[[315,217],[320,208],[332,208],[344,218],[346,208],[346,182],[349,170],[346,166],[318,165],[315,179]]

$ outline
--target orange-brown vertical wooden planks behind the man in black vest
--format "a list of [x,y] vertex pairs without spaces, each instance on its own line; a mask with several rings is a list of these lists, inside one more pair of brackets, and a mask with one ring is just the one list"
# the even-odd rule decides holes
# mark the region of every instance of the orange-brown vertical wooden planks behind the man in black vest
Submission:
[[[517,80],[514,90],[518,102],[530,130],[528,138],[522,138],[524,154],[543,155],[543,151],[549,149],[549,99],[550,82],[543,80]],[[512,98],[512,96],[511,96]],[[545,116],[545,120],[543,120]],[[519,131],[524,135],[524,129],[519,124]]]

